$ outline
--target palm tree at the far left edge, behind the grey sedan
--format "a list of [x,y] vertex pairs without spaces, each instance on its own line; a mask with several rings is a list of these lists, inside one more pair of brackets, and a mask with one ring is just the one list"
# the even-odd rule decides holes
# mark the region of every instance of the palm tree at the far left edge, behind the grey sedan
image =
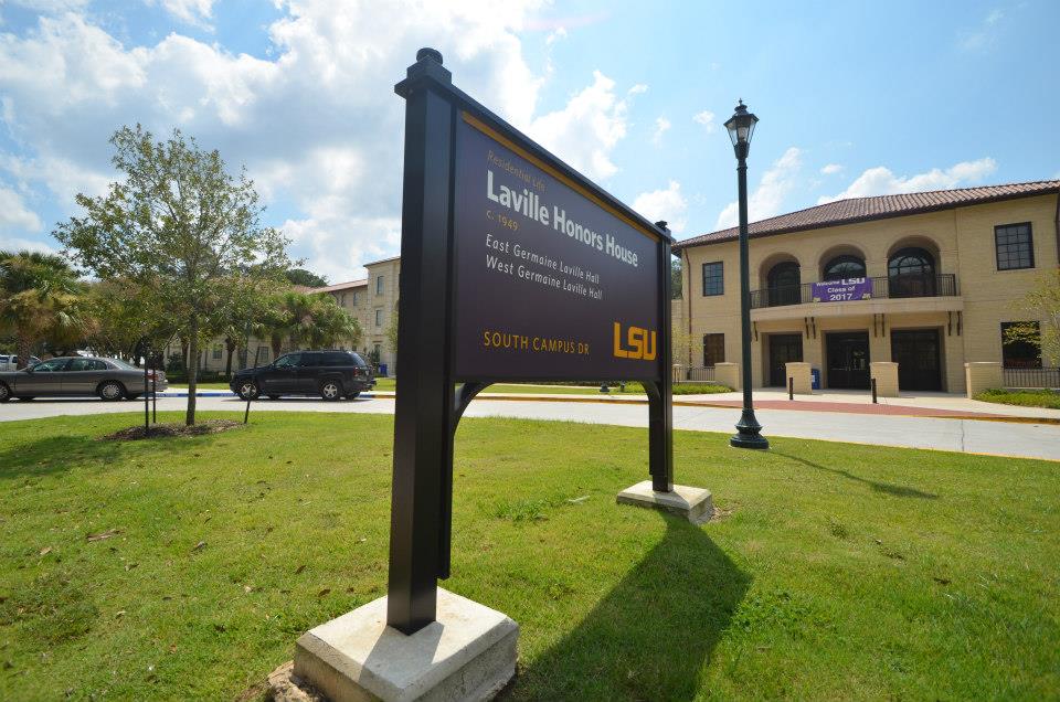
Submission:
[[60,256],[0,252],[0,329],[14,334],[19,368],[33,344],[65,337],[81,325],[77,273]]

